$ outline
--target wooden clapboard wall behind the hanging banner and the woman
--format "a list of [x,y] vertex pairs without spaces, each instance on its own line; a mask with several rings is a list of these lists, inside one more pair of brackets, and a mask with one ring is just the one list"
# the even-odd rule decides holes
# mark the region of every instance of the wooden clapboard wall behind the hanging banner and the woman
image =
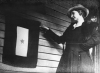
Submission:
[[[42,9],[41,9],[42,8]],[[57,35],[61,36],[65,29],[70,25],[70,19],[67,17],[67,8],[61,7],[58,4],[43,5],[17,5],[4,6],[4,11],[9,10],[20,14],[30,20],[40,21]],[[45,10],[45,11],[43,11]],[[21,72],[56,72],[59,64],[62,47],[48,37],[44,37],[44,33],[40,31],[38,44],[38,63],[36,68],[19,68],[2,63],[2,54],[5,35],[5,16],[4,11],[0,13],[0,70],[7,73]]]

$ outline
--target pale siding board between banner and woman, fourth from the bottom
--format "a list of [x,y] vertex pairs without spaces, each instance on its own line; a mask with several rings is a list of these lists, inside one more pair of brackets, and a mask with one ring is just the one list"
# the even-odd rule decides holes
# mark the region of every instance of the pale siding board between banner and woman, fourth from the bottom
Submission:
[[39,46],[38,52],[62,55],[62,50],[45,46]]

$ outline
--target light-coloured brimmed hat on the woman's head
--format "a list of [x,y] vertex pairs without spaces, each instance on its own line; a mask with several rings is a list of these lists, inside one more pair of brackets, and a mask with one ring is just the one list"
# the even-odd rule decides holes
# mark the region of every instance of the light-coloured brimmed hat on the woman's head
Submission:
[[71,17],[71,12],[72,12],[73,10],[82,10],[82,11],[85,13],[84,18],[87,17],[88,14],[89,14],[89,10],[88,10],[87,8],[85,8],[85,7],[84,7],[83,5],[81,5],[81,4],[78,4],[78,5],[72,7],[72,8],[70,8],[70,9],[68,10],[68,13],[67,13],[68,17]]

